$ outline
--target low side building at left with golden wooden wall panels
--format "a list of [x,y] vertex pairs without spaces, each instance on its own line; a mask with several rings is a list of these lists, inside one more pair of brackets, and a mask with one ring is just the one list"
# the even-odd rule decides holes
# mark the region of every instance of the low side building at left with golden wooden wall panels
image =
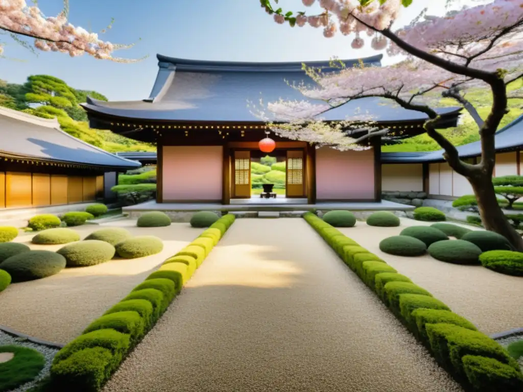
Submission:
[[106,200],[140,164],[63,132],[56,119],[0,107],[0,212]]

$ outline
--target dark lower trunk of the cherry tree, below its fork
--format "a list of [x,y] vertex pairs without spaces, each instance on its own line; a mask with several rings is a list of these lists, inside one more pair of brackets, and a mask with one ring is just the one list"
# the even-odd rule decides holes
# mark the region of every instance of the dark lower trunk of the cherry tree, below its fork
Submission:
[[487,174],[470,179],[472,189],[476,195],[477,206],[480,211],[481,221],[487,230],[501,234],[510,241],[514,250],[523,252],[523,238],[512,227],[498,204],[494,187],[488,186],[492,183],[492,177]]

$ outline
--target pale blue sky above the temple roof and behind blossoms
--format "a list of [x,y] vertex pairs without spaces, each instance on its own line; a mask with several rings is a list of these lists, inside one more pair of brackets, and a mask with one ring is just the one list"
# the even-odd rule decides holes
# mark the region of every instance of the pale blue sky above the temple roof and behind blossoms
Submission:
[[[436,2],[414,1],[397,26],[408,23],[430,3],[434,7]],[[437,3],[433,14],[444,10],[445,2]],[[62,5],[62,0],[39,1],[47,16],[58,14]],[[306,8],[301,0],[281,0],[280,5],[293,10]],[[115,24],[101,35],[102,39],[137,42],[134,48],[115,52],[115,56],[149,58],[121,64],[87,55],[71,58],[63,53],[39,51],[35,56],[7,39],[5,56],[24,61],[0,59],[0,79],[23,83],[29,75],[48,74],[74,88],[96,90],[110,100],[134,100],[149,96],[157,72],[156,53],[228,61],[314,61],[332,56],[353,59],[377,53],[370,47],[351,49],[351,38],[341,34],[325,39],[319,29],[277,25],[260,8],[258,0],[70,0],[69,20],[75,26],[99,31],[111,17],[116,19]]]

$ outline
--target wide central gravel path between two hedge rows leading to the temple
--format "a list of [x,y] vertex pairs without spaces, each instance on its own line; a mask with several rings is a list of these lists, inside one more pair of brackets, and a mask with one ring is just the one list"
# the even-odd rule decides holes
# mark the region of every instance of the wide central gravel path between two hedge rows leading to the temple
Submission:
[[104,392],[460,391],[299,218],[236,220]]

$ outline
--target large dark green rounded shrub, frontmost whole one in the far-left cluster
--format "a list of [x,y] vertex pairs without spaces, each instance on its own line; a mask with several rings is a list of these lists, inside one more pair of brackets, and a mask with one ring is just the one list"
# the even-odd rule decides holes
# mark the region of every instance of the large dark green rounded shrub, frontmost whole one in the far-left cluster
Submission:
[[65,258],[49,250],[31,250],[18,253],[0,263],[0,269],[5,270],[13,282],[47,278],[59,273],[65,268]]

